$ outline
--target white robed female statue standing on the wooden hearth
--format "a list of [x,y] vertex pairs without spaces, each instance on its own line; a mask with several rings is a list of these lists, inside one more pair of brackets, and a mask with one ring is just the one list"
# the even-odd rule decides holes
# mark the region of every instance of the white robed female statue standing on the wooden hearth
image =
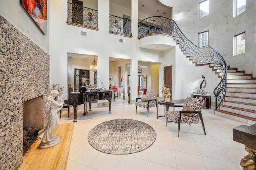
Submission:
[[60,143],[60,137],[54,136],[52,134],[54,129],[59,124],[57,112],[63,107],[61,101],[58,103],[56,100],[54,100],[57,95],[59,95],[59,92],[57,90],[52,90],[50,95],[46,98],[46,105],[50,107],[48,114],[48,124],[46,127],[44,127],[44,129],[38,132],[38,137],[41,139],[39,147],[42,149],[50,148]]

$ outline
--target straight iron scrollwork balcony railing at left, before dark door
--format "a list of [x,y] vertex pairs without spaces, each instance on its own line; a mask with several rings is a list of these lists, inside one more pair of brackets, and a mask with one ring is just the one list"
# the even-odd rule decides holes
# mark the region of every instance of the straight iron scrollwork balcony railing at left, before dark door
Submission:
[[98,11],[68,2],[68,22],[98,28]]

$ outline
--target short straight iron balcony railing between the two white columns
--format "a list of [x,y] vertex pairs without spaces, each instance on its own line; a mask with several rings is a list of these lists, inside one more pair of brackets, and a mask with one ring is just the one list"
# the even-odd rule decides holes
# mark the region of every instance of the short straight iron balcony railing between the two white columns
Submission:
[[131,20],[109,15],[109,31],[132,35]]

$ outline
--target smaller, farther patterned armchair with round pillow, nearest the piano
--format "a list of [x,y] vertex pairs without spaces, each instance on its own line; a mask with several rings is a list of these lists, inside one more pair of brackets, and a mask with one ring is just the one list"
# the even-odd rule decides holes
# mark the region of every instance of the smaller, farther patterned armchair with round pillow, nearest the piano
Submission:
[[[150,107],[155,107],[157,109],[157,104],[156,104],[156,92],[146,92],[146,96],[143,96],[142,98],[136,98],[136,113],[137,113],[137,106],[139,107],[144,107],[146,109],[149,109]],[[138,99],[141,99],[141,102],[138,102]]]

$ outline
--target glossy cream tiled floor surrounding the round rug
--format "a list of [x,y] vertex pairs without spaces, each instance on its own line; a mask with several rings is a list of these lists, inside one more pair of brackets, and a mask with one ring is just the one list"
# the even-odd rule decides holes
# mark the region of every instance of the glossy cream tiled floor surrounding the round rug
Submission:
[[[127,104],[120,98],[108,107],[97,108],[92,104],[92,111],[83,116],[82,105],[78,107],[78,119],[74,125],[70,152],[66,170],[242,170],[240,160],[248,152],[244,145],[232,140],[232,128],[242,123],[214,115],[212,109],[203,109],[206,129],[202,125],[182,124],[180,137],[177,137],[178,124],[168,123],[165,117],[156,117],[156,107],[146,109],[134,104]],[[159,114],[164,115],[164,106]],[[66,109],[62,111],[60,123],[74,120],[73,109],[70,118]],[[136,119],[151,125],[157,134],[154,144],[146,150],[134,154],[115,155],[102,153],[88,143],[89,131],[99,123],[112,119]]]

